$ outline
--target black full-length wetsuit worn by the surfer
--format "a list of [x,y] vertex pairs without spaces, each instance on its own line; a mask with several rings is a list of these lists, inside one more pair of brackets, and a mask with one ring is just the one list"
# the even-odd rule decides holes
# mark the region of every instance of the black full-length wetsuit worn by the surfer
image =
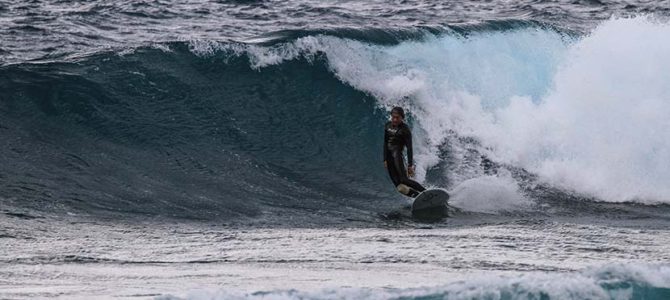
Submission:
[[398,127],[393,127],[391,122],[384,126],[384,161],[386,162],[391,181],[401,191],[400,184],[410,188],[406,194],[410,197],[416,197],[420,192],[426,190],[418,182],[407,177],[405,162],[402,156],[402,150],[407,147],[407,164],[413,165],[412,153],[412,132],[405,123],[400,123]]

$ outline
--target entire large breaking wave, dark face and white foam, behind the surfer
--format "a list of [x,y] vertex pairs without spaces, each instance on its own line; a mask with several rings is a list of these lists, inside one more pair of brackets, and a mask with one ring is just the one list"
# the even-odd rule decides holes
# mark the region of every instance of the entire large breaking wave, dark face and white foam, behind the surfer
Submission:
[[400,104],[418,179],[455,191],[466,210],[532,209],[545,193],[537,186],[669,202],[668,25],[612,19],[583,36],[494,25],[393,43],[300,33],[5,65],[2,201],[374,219],[402,198],[381,167],[380,139]]

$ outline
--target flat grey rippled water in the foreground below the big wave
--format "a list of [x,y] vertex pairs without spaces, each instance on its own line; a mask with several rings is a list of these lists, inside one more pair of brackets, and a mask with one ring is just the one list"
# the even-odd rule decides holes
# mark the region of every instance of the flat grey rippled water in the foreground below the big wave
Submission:
[[[2,223],[3,297],[664,299],[664,227]],[[259,293],[259,290],[265,291]]]

